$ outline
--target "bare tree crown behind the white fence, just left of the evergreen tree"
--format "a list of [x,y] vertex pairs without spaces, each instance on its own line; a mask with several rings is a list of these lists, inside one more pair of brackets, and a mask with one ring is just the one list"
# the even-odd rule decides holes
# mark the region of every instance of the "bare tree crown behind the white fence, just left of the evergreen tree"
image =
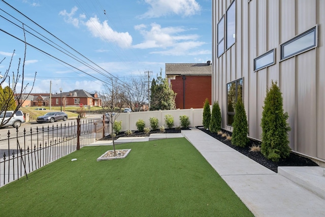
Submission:
[[146,84],[146,76],[135,77],[123,83],[121,99],[132,111],[140,111],[147,98],[148,87]]

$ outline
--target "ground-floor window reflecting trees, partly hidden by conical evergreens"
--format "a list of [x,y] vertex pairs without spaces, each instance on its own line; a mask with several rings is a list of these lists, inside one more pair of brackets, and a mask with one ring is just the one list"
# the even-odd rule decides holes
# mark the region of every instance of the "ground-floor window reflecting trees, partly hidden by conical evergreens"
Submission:
[[237,100],[243,100],[243,78],[227,84],[227,125],[232,126]]

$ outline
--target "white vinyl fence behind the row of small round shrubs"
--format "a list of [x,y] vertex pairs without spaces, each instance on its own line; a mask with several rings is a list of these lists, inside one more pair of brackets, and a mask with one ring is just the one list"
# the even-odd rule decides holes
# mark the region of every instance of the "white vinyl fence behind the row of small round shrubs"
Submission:
[[120,113],[116,120],[122,120],[122,131],[136,131],[136,122],[139,119],[144,119],[146,127],[150,128],[150,117],[156,117],[159,121],[159,127],[165,126],[165,115],[170,114],[174,117],[174,127],[180,126],[179,116],[186,115],[189,117],[190,126],[202,126],[203,108],[200,109],[176,109],[176,110],[159,110],[159,111],[140,111],[140,112],[124,112]]

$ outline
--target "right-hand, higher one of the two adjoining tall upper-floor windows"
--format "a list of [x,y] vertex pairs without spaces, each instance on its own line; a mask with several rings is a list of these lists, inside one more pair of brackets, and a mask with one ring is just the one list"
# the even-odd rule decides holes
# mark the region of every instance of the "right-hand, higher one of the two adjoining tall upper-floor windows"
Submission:
[[226,11],[226,49],[235,44],[236,40],[236,0]]

